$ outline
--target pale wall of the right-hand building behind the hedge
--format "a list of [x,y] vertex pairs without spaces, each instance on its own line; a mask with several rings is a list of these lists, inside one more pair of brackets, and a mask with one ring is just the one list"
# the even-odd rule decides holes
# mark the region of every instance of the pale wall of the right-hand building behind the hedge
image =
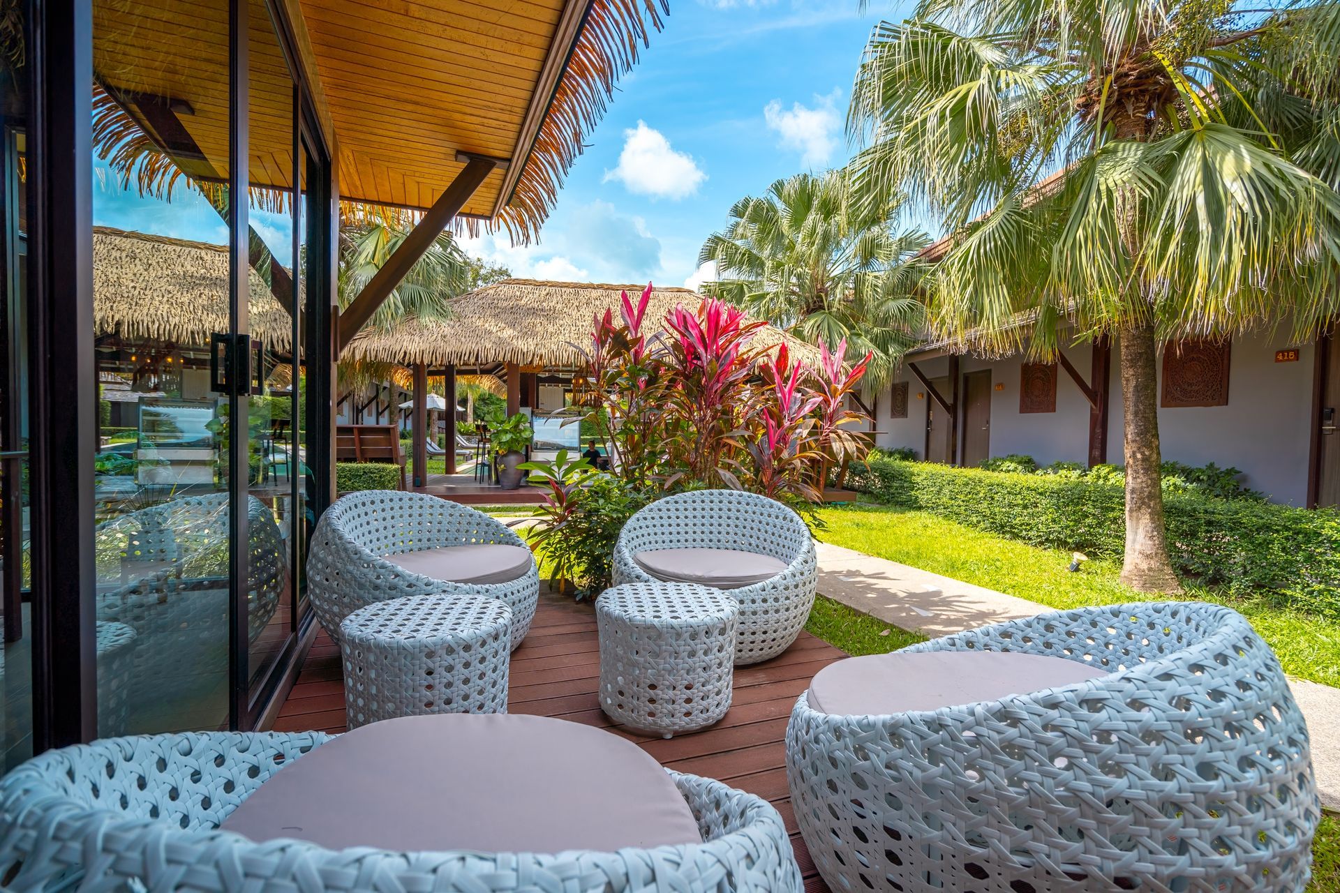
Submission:
[[[1159,408],[1163,458],[1187,465],[1233,466],[1242,482],[1276,502],[1306,503],[1308,447],[1312,423],[1313,348],[1298,349],[1296,363],[1276,363],[1284,339],[1262,335],[1233,343],[1229,360],[1229,403],[1215,407]],[[1067,348],[1065,356],[1080,375],[1089,375],[1092,348]],[[1119,355],[1112,351],[1110,382],[1108,462],[1124,463]],[[962,357],[961,372],[992,370],[990,455],[1022,453],[1040,465],[1088,459],[1088,400],[1065,370],[1057,370],[1056,412],[1020,414],[1020,357],[981,360]],[[917,363],[927,378],[947,374],[949,359]],[[1159,357],[1162,387],[1162,355]],[[898,380],[907,382],[907,418],[890,419],[888,388],[878,395],[875,443],[883,449],[909,446],[922,457],[926,447],[926,406],[930,395],[906,366]],[[996,390],[1000,387],[1001,390]],[[1160,391],[1162,392],[1162,391]],[[918,394],[923,396],[918,399]],[[947,396],[947,395],[946,395]]]

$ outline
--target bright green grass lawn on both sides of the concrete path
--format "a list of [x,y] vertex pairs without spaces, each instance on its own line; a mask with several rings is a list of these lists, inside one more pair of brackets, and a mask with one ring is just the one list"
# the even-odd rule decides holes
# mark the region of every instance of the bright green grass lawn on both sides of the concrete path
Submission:
[[[828,525],[819,534],[824,542],[1053,608],[1139,601],[1142,597],[1118,581],[1120,565],[1115,562],[1091,561],[1081,573],[1071,573],[1065,569],[1071,561],[1068,552],[1038,549],[981,533],[925,511],[835,506],[820,514]],[[1289,672],[1340,684],[1340,625],[1272,608],[1265,600],[1229,601],[1205,589],[1195,589],[1191,594],[1223,601],[1250,617]],[[884,653],[925,639],[823,596],[815,600],[805,629],[848,655]],[[1333,814],[1321,817],[1312,843],[1308,893],[1340,893],[1340,817]]]

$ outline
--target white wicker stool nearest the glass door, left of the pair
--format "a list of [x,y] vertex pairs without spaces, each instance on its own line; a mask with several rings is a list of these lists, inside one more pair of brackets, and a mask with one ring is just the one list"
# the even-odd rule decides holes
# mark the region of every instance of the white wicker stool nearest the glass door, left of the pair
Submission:
[[484,596],[406,596],[340,624],[350,728],[419,714],[505,714],[512,609]]

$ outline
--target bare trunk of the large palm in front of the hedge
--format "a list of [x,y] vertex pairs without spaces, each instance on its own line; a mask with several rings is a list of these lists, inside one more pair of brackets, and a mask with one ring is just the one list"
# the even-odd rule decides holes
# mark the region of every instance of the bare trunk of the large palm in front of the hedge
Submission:
[[1139,592],[1182,592],[1168,561],[1159,474],[1158,372],[1152,320],[1118,329],[1126,434],[1126,557],[1122,582]]

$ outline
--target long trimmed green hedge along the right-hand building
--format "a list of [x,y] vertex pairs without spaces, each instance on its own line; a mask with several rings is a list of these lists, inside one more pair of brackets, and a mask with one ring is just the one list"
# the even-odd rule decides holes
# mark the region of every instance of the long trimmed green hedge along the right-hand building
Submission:
[[[1032,545],[1118,558],[1126,548],[1115,483],[875,458],[847,486]],[[1168,491],[1163,511],[1179,574],[1340,617],[1340,511]]]

